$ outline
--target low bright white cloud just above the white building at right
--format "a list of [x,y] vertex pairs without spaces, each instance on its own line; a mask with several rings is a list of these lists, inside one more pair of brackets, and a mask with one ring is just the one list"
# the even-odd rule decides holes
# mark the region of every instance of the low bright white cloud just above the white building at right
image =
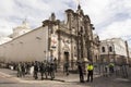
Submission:
[[100,38],[131,37],[131,18],[124,22],[112,22],[100,30]]

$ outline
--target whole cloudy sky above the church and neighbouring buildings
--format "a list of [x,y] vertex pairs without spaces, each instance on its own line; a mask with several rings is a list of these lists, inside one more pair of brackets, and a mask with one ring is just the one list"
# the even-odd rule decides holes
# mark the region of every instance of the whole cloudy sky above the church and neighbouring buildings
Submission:
[[121,37],[131,47],[131,0],[1,0],[0,36],[12,34],[25,18],[32,28],[41,26],[52,12],[62,21],[64,10],[76,10],[79,3],[102,40]]

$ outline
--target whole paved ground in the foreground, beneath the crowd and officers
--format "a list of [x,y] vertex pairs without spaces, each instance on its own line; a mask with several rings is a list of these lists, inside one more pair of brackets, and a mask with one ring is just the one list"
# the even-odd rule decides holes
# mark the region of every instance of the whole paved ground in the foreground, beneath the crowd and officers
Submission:
[[14,71],[0,69],[0,87],[130,87],[131,82],[120,77],[95,76],[93,83],[79,83],[78,74],[58,73],[55,80],[35,80],[31,75],[22,78]]

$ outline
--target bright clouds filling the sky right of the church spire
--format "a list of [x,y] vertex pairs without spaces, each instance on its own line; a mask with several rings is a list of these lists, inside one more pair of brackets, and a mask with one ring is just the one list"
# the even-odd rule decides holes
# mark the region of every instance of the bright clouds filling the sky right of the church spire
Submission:
[[131,35],[131,1],[84,0],[82,5],[91,16],[100,39]]

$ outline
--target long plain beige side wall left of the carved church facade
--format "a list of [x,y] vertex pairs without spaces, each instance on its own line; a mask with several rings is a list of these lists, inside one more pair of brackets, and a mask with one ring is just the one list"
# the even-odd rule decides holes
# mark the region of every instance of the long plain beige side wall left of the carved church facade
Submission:
[[5,61],[43,61],[48,44],[48,27],[38,27],[0,45],[0,59]]

